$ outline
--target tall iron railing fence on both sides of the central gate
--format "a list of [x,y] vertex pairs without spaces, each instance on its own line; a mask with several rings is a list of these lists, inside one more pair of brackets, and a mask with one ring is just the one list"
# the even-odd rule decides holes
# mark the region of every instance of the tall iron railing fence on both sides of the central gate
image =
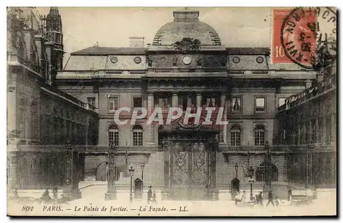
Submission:
[[[283,149],[282,149],[283,148]],[[271,184],[274,188],[326,188],[336,187],[337,154],[330,147],[310,150],[308,146],[285,148],[271,146]],[[49,186],[63,187],[67,180],[67,159],[71,151],[78,152],[80,163],[78,179],[84,181],[85,157],[102,153],[104,164],[95,166],[93,174],[102,173],[107,181],[106,159],[108,146],[19,146],[10,151],[10,182],[19,189],[43,189]],[[117,189],[130,189],[130,166],[134,168],[132,181],[142,180],[143,189],[152,186],[162,189],[165,177],[165,151],[158,147],[117,146],[115,148],[115,185]],[[142,167],[144,164],[144,167]],[[262,189],[266,173],[265,151],[262,147],[220,147],[215,152],[215,177],[217,189],[231,189],[231,181],[237,177],[241,189],[250,189],[248,168],[254,170],[252,189]],[[171,168],[169,163],[169,168]],[[91,173],[92,174],[92,173]],[[14,178],[14,179],[13,179]],[[133,184],[134,185],[134,184]]]

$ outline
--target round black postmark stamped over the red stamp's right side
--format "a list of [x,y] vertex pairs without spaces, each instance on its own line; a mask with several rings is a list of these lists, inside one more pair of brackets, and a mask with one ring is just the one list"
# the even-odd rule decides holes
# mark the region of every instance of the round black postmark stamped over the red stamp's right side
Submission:
[[295,8],[285,17],[281,27],[285,55],[303,68],[320,70],[335,60],[332,52],[335,51],[335,24],[332,28],[325,24],[335,21],[335,17],[327,21],[320,18],[327,18],[327,12],[334,12],[325,10],[320,14],[320,11],[321,8]]

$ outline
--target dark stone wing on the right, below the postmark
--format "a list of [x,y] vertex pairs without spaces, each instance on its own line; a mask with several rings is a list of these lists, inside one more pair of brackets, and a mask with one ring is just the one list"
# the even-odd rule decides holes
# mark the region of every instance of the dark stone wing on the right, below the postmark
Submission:
[[[277,109],[274,144],[310,150],[311,157],[289,157],[292,181],[306,179],[303,170],[311,162],[309,185],[335,187],[337,173],[337,68],[336,62],[318,72],[318,79],[303,92],[289,96]],[[310,164],[311,164],[310,163]]]

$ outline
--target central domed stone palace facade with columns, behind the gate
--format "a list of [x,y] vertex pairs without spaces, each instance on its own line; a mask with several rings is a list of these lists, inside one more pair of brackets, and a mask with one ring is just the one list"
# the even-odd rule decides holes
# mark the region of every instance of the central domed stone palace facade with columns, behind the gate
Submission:
[[[130,166],[137,170],[134,179],[141,178],[141,163],[144,185],[171,198],[199,199],[206,188],[215,197],[221,189],[230,189],[235,163],[242,187],[248,186],[246,170],[251,166],[254,187],[261,188],[263,149],[267,140],[273,141],[277,108],[316,79],[314,70],[296,64],[270,64],[268,48],[225,47],[199,15],[175,11],[174,21],[156,31],[152,44],[134,37],[129,47],[88,47],[71,53],[58,71],[60,90],[95,106],[98,145],[114,142],[117,150],[125,151],[116,156],[118,188],[130,184]],[[148,115],[154,107],[161,107],[165,115],[169,107],[224,107],[228,124],[195,129],[146,124],[145,118],[119,125],[114,114],[120,107],[145,107]],[[132,110],[119,118],[131,116]],[[85,177],[105,180],[106,153],[93,149],[85,158]],[[272,172],[274,183],[288,181],[283,153],[273,156]]]

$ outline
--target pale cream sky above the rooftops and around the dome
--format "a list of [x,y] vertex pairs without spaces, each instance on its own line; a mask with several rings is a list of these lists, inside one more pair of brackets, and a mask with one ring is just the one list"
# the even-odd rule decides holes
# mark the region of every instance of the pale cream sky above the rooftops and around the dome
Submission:
[[[63,26],[64,64],[71,52],[92,47],[128,47],[130,36],[152,43],[156,31],[174,20],[183,8],[67,8],[59,7]],[[188,8],[211,25],[226,47],[270,47],[272,8]],[[49,8],[37,8],[48,14]]]

